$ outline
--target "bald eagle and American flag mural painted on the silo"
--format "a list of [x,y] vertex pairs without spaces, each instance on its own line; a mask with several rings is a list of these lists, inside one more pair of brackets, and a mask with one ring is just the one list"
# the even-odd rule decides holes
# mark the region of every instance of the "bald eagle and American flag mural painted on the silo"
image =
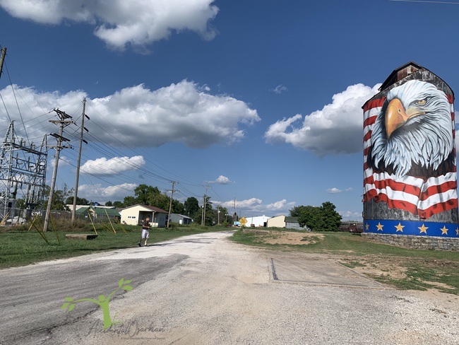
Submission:
[[453,95],[410,80],[364,105],[364,201],[370,200],[419,218],[457,213]]

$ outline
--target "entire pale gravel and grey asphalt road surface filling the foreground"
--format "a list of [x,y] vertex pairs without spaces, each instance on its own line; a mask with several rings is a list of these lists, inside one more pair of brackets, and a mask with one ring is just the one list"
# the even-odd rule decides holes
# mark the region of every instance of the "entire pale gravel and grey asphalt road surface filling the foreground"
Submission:
[[[396,291],[333,257],[191,235],[0,271],[0,344],[459,344],[456,296]],[[102,310],[64,298],[133,290]]]

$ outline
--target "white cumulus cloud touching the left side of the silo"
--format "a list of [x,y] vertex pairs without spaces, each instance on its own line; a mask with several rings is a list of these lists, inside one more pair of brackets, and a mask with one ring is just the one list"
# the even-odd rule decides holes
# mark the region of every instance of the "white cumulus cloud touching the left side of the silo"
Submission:
[[333,95],[333,102],[304,117],[294,115],[271,124],[266,142],[287,143],[297,148],[326,156],[355,153],[362,150],[362,105],[378,93],[373,88],[356,84]]

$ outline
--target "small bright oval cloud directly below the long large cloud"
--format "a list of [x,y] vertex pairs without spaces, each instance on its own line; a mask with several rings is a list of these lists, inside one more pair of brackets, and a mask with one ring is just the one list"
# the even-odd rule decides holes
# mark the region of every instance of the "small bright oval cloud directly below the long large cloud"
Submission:
[[105,157],[97,158],[95,160],[88,160],[84,163],[80,171],[81,173],[107,176],[107,175],[117,175],[120,172],[137,170],[145,165],[145,160],[143,156],[134,156],[134,157],[114,157],[107,159]]

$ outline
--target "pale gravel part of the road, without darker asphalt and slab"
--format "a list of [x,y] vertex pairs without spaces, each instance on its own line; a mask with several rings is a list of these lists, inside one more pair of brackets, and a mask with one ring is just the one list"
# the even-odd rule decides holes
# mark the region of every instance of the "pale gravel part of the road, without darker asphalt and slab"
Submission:
[[[45,344],[459,344],[457,296],[391,288],[274,281],[280,255],[227,239],[231,232],[97,255],[154,262],[169,271],[110,303],[122,322],[102,332],[102,312],[52,329]],[[326,255],[301,255],[304,267]],[[326,273],[326,272],[325,272]],[[126,277],[129,278],[129,277]]]

